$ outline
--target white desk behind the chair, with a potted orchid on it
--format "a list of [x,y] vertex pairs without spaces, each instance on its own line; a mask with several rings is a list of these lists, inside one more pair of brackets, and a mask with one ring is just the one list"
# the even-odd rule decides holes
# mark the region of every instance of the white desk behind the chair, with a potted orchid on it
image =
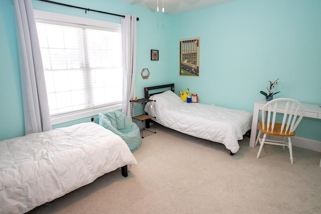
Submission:
[[[250,137],[250,147],[254,147],[255,140],[256,140],[256,130],[257,130],[257,121],[259,117],[259,111],[262,110],[263,106],[267,103],[265,100],[258,101],[254,103],[254,110],[253,110],[253,119],[252,119],[252,131]],[[311,117],[321,119],[321,108],[319,105],[302,103],[305,109],[304,117]],[[284,112],[283,107],[277,107],[277,112]],[[320,162],[321,166],[321,162]]]

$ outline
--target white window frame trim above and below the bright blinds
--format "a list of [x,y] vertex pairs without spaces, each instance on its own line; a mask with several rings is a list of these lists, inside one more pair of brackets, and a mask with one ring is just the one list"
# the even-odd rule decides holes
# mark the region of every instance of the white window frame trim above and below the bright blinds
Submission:
[[[111,30],[121,31],[121,25],[117,23],[110,23],[110,22],[105,22],[100,20],[92,20],[92,19],[86,19],[81,17],[74,17],[74,16],[50,13],[45,11],[39,11],[39,10],[34,10],[34,15],[35,15],[36,22],[45,21],[46,23],[50,23],[51,21],[58,21],[58,22],[64,22],[67,26],[70,26],[73,24],[82,25],[82,26],[86,25],[86,26],[91,26],[90,28],[92,29],[97,27],[97,29],[109,28]],[[72,24],[68,24],[66,22],[72,23]],[[71,112],[71,113],[65,113],[61,115],[54,115],[54,116],[51,116],[51,122],[52,122],[52,125],[57,125],[57,124],[69,122],[72,120],[92,117],[94,115],[97,115],[98,113],[103,113],[108,110],[119,110],[121,109],[121,106],[122,106],[122,102],[116,102],[112,105],[103,106],[103,107],[94,107],[89,110],[86,109],[86,110],[80,110],[80,111]]]

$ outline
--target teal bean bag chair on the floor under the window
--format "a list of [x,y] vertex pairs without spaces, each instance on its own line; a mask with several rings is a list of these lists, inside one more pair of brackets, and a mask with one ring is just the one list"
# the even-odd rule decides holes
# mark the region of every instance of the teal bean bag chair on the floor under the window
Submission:
[[128,145],[131,152],[141,145],[138,126],[120,111],[110,110],[104,114],[99,113],[99,125],[120,136]]

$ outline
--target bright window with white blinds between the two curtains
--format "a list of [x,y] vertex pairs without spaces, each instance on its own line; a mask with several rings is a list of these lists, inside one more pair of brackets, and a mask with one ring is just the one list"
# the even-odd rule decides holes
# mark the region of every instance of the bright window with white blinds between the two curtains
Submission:
[[35,11],[35,17],[52,119],[60,123],[94,115],[97,108],[119,109],[120,25],[47,12]]

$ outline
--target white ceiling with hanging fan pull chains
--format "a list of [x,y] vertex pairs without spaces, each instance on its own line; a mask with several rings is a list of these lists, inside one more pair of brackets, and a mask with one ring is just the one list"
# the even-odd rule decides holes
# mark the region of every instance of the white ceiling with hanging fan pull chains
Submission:
[[[156,11],[157,0],[121,0],[130,4],[139,5]],[[222,3],[232,2],[234,0],[158,0],[159,12],[164,9],[167,14],[180,14],[187,11],[198,10]]]

